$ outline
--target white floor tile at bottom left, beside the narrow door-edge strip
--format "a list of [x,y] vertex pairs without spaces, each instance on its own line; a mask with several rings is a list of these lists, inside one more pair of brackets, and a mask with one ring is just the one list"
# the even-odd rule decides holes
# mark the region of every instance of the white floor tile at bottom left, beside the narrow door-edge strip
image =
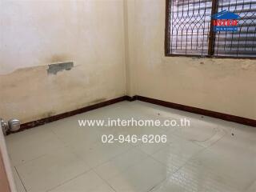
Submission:
[[38,192],[50,190],[86,172],[89,167],[70,150],[62,148],[21,164],[17,170],[26,190]]

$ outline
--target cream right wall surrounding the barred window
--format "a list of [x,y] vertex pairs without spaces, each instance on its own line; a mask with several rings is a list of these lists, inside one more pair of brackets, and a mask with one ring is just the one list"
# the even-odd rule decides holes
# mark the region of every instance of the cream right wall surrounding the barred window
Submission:
[[130,94],[256,119],[256,60],[166,58],[166,1],[127,3]]

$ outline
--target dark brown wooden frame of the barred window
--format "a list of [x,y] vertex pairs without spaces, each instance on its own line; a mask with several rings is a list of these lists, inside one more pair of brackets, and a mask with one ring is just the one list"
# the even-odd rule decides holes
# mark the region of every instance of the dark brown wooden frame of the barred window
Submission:
[[[215,35],[214,35],[214,26],[213,20],[210,21],[210,34],[209,34],[209,44],[208,44],[208,54],[173,54],[170,53],[170,5],[171,1],[174,0],[166,0],[166,28],[165,28],[165,56],[166,57],[188,57],[188,58],[234,58],[234,59],[256,59],[256,55],[254,57],[241,57],[241,56],[220,56],[214,55],[214,42],[215,42]],[[218,12],[218,0],[212,0],[212,10],[211,15],[217,14]]]

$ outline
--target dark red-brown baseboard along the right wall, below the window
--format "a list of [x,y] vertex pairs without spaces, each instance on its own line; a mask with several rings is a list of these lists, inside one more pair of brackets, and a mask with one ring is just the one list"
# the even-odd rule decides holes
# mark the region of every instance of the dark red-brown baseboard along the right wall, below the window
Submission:
[[185,106],[185,105],[181,105],[181,104],[177,104],[174,102],[165,102],[162,100],[158,100],[155,98],[146,98],[146,97],[142,97],[139,95],[134,96],[137,100],[142,101],[142,102],[150,102],[152,104],[158,105],[158,106],[166,106],[169,108],[173,108],[176,110],[184,110],[190,113],[194,113],[194,114],[202,114],[205,116],[209,116],[211,118],[220,118],[222,120],[226,120],[228,122],[237,122],[246,126],[254,126],[256,127],[256,120],[254,119],[250,119],[250,118],[242,118],[242,117],[238,117],[232,114],[222,114],[219,112],[215,112],[215,111],[211,111],[211,110],[203,110],[194,106]]

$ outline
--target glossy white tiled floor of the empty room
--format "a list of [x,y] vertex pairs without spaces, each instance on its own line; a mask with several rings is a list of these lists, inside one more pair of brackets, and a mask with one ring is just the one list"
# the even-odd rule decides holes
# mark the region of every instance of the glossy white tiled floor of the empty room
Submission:
[[[79,127],[78,119],[190,119],[186,127]],[[102,134],[167,143],[102,144]],[[120,102],[6,137],[18,192],[255,192],[256,129]]]

